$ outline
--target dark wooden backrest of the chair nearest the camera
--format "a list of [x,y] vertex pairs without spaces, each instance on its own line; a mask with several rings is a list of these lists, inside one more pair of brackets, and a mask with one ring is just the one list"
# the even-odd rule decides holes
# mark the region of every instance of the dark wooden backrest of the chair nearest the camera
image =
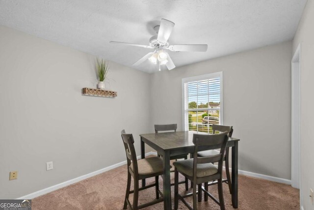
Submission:
[[[193,173],[196,177],[196,164],[215,163],[218,162],[218,172],[222,171],[224,160],[224,153],[228,142],[228,131],[219,134],[193,134],[194,149],[194,162]],[[198,157],[198,147],[201,146],[216,146],[220,148],[220,153],[211,157]]]

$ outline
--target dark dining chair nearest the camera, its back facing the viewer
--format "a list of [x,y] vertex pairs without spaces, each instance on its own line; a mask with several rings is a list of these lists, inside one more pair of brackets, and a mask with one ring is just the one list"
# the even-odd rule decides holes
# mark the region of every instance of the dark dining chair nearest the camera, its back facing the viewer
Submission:
[[[208,196],[220,206],[220,210],[225,210],[223,189],[222,189],[222,166],[224,153],[228,141],[228,131],[207,135],[193,134],[194,157],[188,160],[179,160],[173,163],[175,166],[175,210],[178,210],[179,199],[189,210],[197,210],[196,195],[198,202],[202,201],[202,191],[205,194],[205,201]],[[199,147],[215,146],[220,147],[219,154],[210,157],[198,157],[197,152]],[[218,167],[213,163],[218,162]],[[179,173],[193,182],[193,192],[186,195],[179,194]],[[219,201],[208,192],[208,182],[218,180],[218,196]],[[205,186],[202,186],[205,183]],[[198,191],[196,191],[196,185]],[[184,198],[193,196],[193,208],[184,200]]]

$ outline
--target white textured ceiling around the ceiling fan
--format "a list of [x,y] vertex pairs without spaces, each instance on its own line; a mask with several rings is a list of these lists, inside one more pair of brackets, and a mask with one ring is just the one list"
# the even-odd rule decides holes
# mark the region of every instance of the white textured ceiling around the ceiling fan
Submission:
[[176,66],[291,40],[307,0],[0,0],[0,24],[145,72],[161,18],[174,22],[170,44],[208,44],[207,52],[169,52]]

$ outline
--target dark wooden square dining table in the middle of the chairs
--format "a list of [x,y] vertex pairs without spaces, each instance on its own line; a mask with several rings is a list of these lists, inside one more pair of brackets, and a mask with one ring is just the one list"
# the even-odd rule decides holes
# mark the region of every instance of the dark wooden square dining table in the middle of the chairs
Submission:
[[[141,158],[145,158],[145,144],[160,154],[163,162],[163,208],[164,210],[171,210],[171,183],[170,183],[170,157],[182,154],[193,154],[194,144],[193,134],[206,134],[198,131],[177,131],[177,132],[164,132],[164,133],[148,133],[140,134],[141,139]],[[227,147],[231,147],[231,183],[232,183],[232,206],[238,206],[238,142],[237,138],[229,137]],[[217,146],[199,147],[199,151],[219,149]],[[226,180],[224,180],[226,181]],[[145,179],[142,180],[142,186],[145,186]]]

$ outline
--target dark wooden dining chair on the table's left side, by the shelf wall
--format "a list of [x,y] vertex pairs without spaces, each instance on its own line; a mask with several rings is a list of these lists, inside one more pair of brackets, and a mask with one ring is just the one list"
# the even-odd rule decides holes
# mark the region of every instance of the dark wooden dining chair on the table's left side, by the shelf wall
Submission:
[[[126,197],[124,201],[123,209],[126,210],[128,205],[131,210],[139,210],[159,202],[163,202],[163,194],[159,190],[158,178],[159,175],[163,174],[162,159],[160,157],[148,157],[144,159],[137,160],[136,153],[134,149],[134,139],[132,134],[126,134],[125,130],[121,131],[121,137],[123,140],[124,148],[127,155],[127,166],[128,166],[128,183]],[[134,180],[134,189],[130,190],[131,187],[131,177]],[[144,187],[138,187],[138,181],[155,177],[155,183],[146,185]],[[138,206],[138,192],[150,187],[155,186],[156,200],[142,204]],[[129,201],[129,195],[133,193],[133,205]],[[160,198],[159,198],[160,194]]]

